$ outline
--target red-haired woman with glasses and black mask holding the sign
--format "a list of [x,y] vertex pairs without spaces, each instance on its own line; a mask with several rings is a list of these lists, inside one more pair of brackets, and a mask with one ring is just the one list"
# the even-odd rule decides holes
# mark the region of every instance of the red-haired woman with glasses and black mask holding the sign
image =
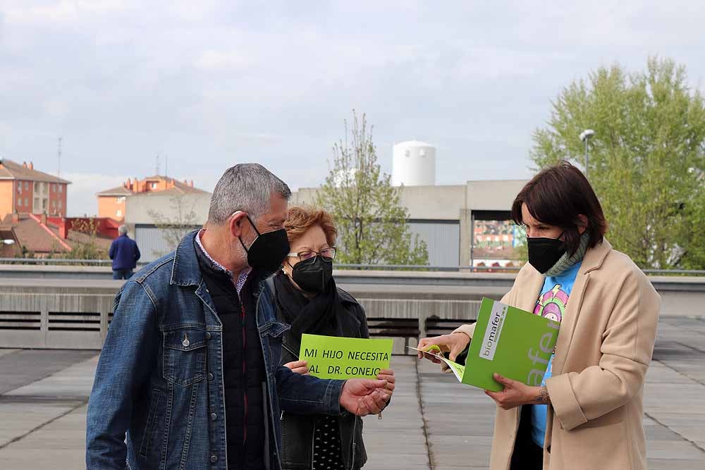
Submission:
[[[344,338],[369,338],[364,309],[352,295],[336,286],[336,227],[325,211],[292,207],[286,235],[290,253],[269,279],[274,289],[276,316],[291,328],[284,333],[280,363],[307,373],[298,360],[303,333]],[[388,390],[395,386],[394,371],[380,371]],[[367,461],[362,442],[362,419],[354,414],[281,414],[283,470],[356,470]]]

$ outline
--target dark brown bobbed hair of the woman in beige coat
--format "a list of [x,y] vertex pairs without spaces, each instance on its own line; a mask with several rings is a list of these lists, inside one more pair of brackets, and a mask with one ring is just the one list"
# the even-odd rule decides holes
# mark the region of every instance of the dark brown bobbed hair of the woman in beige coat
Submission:
[[512,204],[512,218],[522,225],[522,204],[537,221],[564,230],[568,252],[575,254],[580,246],[580,215],[587,217],[588,246],[602,242],[607,221],[597,196],[580,170],[567,161],[542,170],[517,194]]

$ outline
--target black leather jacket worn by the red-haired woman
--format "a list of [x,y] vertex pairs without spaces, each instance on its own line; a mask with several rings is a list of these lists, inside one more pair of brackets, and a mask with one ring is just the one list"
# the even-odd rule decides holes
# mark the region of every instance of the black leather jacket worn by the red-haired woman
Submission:
[[[271,282],[271,278],[267,281]],[[274,292],[274,289],[273,289]],[[338,289],[341,299],[341,308],[338,309],[338,325],[342,336],[345,338],[369,338],[367,330],[367,317],[364,309],[355,298],[342,289]],[[276,305],[278,305],[275,302]],[[279,321],[283,320],[280,309],[276,315]],[[298,361],[300,343],[293,339],[289,332],[285,333],[282,341],[281,364]],[[281,460],[283,470],[311,469],[313,460],[314,425],[318,419],[317,414],[281,414]],[[360,469],[367,462],[367,452],[362,443],[362,419],[354,414],[344,412],[338,418],[338,427],[341,431],[341,447],[345,468]]]

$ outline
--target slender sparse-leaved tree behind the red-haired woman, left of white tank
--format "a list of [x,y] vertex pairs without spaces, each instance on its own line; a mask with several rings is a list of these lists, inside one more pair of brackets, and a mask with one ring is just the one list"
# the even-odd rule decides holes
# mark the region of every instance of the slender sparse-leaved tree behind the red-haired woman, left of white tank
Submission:
[[352,128],[333,146],[333,168],[317,194],[317,205],[336,220],[338,262],[413,264],[429,262],[426,243],[412,235],[399,187],[377,163],[372,128],[353,110]]

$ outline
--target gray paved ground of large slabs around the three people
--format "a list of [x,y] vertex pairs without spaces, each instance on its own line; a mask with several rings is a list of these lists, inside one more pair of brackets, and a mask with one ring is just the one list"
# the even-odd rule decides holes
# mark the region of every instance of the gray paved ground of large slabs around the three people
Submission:
[[[96,352],[0,350],[0,469],[85,468]],[[494,404],[437,366],[393,358],[398,388],[368,416],[367,470],[484,469]],[[650,469],[705,468],[705,319],[664,318],[645,390]]]

